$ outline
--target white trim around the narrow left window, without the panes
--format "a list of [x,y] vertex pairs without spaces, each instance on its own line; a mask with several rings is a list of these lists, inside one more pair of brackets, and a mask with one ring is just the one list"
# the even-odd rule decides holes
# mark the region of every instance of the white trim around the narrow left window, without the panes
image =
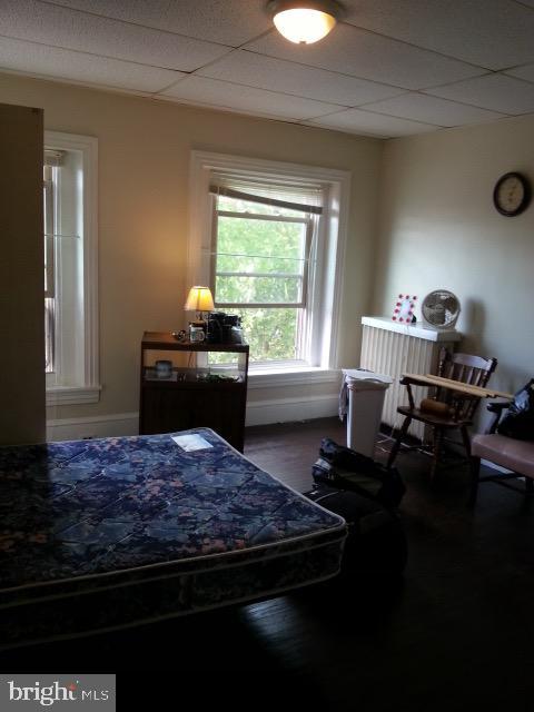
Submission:
[[83,158],[83,384],[48,386],[47,405],[98,403],[98,139],[47,130],[44,146],[77,150]]

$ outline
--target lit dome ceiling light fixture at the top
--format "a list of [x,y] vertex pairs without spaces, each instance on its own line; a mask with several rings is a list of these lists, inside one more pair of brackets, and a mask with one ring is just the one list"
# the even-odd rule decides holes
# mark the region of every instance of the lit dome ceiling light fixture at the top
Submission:
[[296,44],[322,40],[343,10],[335,0],[270,0],[267,9],[278,32]]

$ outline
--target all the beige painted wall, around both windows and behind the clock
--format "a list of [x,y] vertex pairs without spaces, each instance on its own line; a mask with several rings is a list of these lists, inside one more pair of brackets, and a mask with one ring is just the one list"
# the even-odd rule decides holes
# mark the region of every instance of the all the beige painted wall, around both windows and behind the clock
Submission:
[[[462,300],[464,348],[498,358],[495,385],[514,390],[532,375],[534,205],[504,218],[492,191],[508,170],[534,181],[534,118],[384,144],[8,75],[0,100],[43,108],[48,129],[99,139],[103,392],[97,405],[51,408],[50,417],[137,411],[144,329],[182,325],[191,149],[352,171],[340,365],[358,362],[362,314],[389,314],[399,291],[446,287]],[[334,390],[322,384],[308,394]],[[301,396],[301,387],[250,393],[258,402]]]

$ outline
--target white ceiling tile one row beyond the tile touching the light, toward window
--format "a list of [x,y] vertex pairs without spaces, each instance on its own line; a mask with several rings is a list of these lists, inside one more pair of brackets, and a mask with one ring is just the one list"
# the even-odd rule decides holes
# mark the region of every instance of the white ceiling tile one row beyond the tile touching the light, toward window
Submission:
[[346,107],[377,101],[403,91],[397,87],[304,67],[243,50],[236,50],[212,65],[199,69],[197,75],[307,97],[317,101],[332,101]]

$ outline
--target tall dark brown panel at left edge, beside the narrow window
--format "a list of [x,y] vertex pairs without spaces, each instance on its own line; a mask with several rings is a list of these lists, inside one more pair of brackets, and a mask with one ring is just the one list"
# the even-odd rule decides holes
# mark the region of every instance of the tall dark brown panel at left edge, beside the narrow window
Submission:
[[42,111],[0,105],[0,444],[44,439]]

